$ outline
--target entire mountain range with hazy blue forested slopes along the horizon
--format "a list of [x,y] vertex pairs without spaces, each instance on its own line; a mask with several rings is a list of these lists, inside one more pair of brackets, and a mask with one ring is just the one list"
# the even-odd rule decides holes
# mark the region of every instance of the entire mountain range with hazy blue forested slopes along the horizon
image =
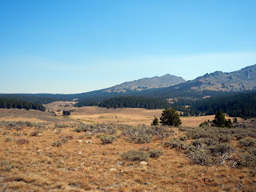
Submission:
[[[174,86],[171,86],[174,85]],[[84,102],[101,102],[106,98],[120,96],[142,96],[157,98],[203,98],[220,96],[238,91],[256,90],[256,64],[231,73],[216,71],[195,78],[192,81],[174,75],[142,78],[132,82],[124,82],[103,90],[94,90],[82,94],[15,94],[20,98],[54,100],[72,100],[79,98]],[[0,94],[10,97],[11,94]],[[15,97],[16,97],[15,96]],[[48,99],[50,98],[50,99]],[[27,99],[26,99],[27,100]],[[90,101],[87,101],[90,100]]]

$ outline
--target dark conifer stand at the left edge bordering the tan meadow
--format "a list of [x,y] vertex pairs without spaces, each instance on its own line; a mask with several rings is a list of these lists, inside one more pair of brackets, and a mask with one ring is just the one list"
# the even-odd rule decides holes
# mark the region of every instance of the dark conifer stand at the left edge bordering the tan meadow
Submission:
[[16,100],[11,98],[0,98],[0,108],[6,109],[26,109],[26,110],[42,110],[45,111],[46,108],[41,104],[35,102],[26,102],[22,100]]

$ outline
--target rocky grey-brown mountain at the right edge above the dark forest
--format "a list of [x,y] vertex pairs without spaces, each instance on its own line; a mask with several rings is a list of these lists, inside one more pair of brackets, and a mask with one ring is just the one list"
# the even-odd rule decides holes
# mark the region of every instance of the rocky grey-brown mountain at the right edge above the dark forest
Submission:
[[256,89],[256,64],[231,73],[215,71],[176,86],[175,90],[244,91]]

